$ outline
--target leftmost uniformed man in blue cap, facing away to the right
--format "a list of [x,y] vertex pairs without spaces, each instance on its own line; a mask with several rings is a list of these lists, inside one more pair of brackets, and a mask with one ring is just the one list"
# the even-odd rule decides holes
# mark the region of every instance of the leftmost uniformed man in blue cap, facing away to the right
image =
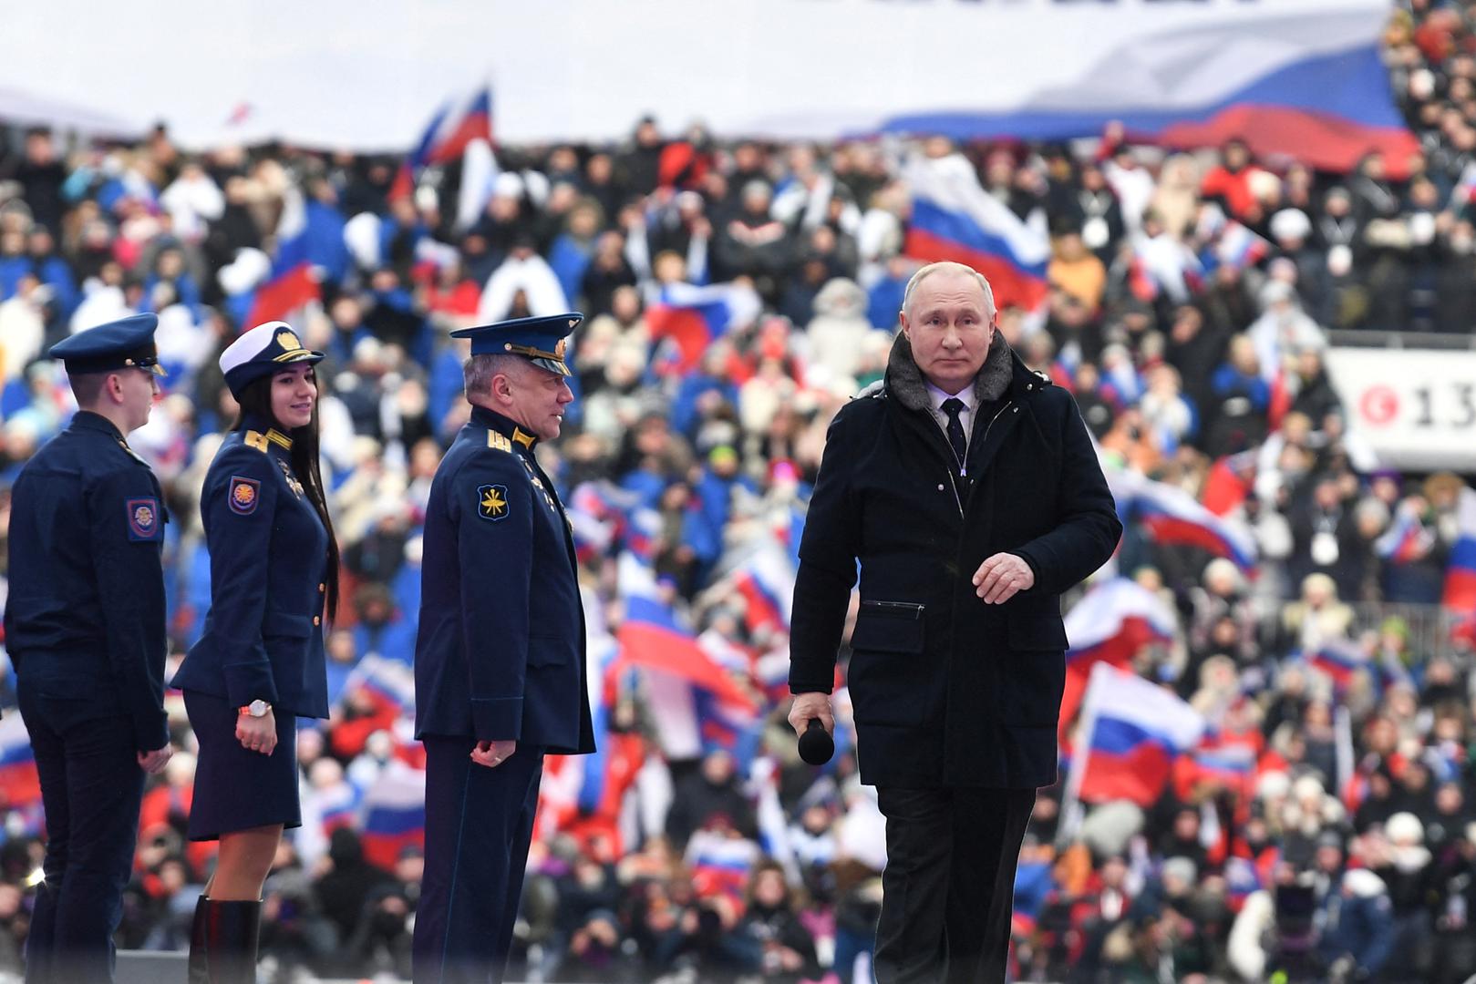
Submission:
[[52,347],[78,412],[12,491],[4,634],[49,834],[27,941],[32,983],[112,980],[145,773],[170,758],[167,513],[125,440],[158,395],[156,326],[136,314]]

